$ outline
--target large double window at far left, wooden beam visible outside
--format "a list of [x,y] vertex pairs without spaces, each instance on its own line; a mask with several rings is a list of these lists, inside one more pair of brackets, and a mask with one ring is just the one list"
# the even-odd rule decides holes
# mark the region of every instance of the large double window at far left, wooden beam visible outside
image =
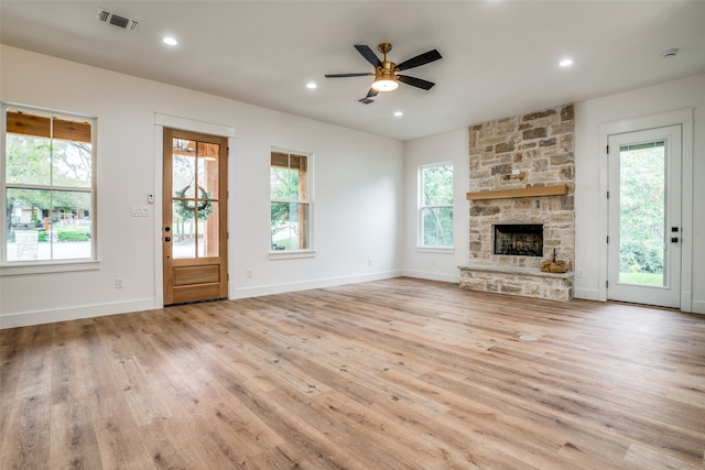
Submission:
[[2,263],[95,260],[95,119],[2,113]]

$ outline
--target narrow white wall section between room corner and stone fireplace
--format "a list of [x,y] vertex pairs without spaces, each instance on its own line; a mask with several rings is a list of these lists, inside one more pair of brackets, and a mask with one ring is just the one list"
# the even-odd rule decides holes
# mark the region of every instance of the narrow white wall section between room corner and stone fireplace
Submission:
[[[469,255],[469,130],[468,128],[410,140],[404,143],[404,259],[403,273],[412,277],[459,282],[459,265]],[[453,250],[417,248],[417,172],[420,165],[453,162],[454,205]]]

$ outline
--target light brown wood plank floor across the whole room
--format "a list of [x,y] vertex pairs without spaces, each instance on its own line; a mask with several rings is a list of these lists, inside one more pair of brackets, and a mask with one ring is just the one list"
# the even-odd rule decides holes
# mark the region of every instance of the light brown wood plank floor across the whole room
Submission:
[[2,469],[705,466],[705,316],[395,278],[0,339]]

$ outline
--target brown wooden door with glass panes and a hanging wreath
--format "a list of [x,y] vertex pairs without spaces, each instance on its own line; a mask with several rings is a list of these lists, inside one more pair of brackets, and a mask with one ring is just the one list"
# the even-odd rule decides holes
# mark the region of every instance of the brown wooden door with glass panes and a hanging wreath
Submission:
[[227,298],[227,138],[164,129],[164,305]]

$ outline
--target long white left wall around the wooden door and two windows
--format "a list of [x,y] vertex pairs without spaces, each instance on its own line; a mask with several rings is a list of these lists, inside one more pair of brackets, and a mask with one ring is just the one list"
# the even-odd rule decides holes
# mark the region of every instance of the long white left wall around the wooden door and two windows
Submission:
[[[236,129],[228,171],[231,298],[399,274],[401,142],[13,47],[1,46],[0,57],[1,100],[98,118],[100,258],[97,271],[0,276],[0,327],[161,305],[155,113]],[[272,145],[314,153],[315,258],[269,258]],[[150,193],[159,197],[150,217],[130,217]],[[124,288],[115,287],[116,277]]]

